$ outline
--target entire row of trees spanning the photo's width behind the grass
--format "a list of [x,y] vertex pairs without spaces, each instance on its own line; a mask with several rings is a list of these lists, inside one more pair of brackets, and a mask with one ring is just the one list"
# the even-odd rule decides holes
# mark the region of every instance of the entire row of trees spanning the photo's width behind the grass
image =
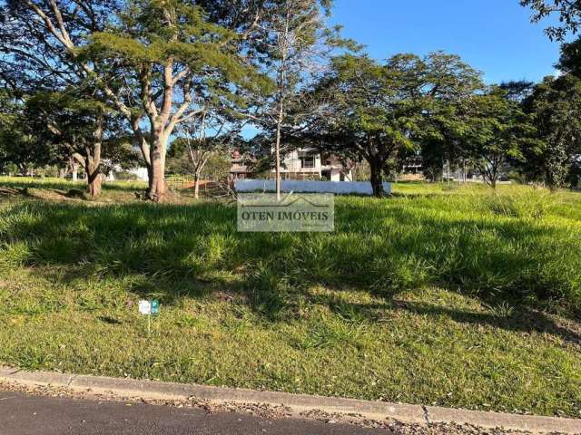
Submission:
[[267,155],[278,180],[281,155],[310,146],[369,164],[379,197],[409,160],[432,179],[446,162],[492,187],[508,170],[578,185],[581,43],[557,77],[486,86],[448,53],[370,58],[327,26],[331,6],[0,0],[0,171],[80,165],[96,196],[104,172],[141,164],[161,201],[168,151],[194,179],[218,152]]

